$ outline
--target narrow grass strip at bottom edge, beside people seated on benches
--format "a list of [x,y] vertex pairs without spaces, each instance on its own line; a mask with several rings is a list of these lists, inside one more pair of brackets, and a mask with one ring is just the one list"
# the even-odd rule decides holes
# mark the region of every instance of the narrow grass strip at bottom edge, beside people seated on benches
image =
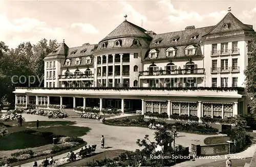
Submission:
[[96,155],[80,159],[75,162],[70,162],[63,164],[61,166],[85,166],[87,162],[96,161],[96,160],[103,160],[105,158],[114,159],[115,157],[119,156],[121,153],[126,152],[125,150],[108,150],[101,153],[97,153]]

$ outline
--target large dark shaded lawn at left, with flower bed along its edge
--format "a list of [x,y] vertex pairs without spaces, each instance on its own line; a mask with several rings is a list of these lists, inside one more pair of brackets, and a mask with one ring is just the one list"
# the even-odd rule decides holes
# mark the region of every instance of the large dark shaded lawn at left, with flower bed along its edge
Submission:
[[[91,130],[89,127],[72,126],[75,123],[69,121],[40,121],[38,129],[36,122],[24,122],[22,127],[18,126],[16,121],[4,123],[11,127],[7,128],[9,135],[0,138],[0,150],[44,146],[52,144],[54,136],[82,136]],[[38,135],[37,131],[48,133]]]

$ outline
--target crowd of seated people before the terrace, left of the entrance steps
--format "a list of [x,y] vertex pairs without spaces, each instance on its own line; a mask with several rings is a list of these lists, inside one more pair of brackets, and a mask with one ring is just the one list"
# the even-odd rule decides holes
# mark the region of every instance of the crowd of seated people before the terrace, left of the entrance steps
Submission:
[[52,111],[46,110],[46,109],[28,109],[26,112],[27,112],[27,114],[48,116],[48,118],[53,118],[54,113],[57,118],[67,118],[68,117],[67,114],[63,114],[63,113],[59,112],[58,110],[52,112]]

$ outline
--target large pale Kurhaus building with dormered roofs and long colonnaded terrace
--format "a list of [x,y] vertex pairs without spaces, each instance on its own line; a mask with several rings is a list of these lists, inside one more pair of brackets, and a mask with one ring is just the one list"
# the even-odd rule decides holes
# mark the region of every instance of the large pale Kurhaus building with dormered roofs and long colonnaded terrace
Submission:
[[69,48],[63,41],[44,60],[45,88],[17,88],[15,103],[199,118],[247,114],[249,100],[236,88],[244,87],[253,33],[230,11],[216,25],[164,34],[125,19],[98,44]]

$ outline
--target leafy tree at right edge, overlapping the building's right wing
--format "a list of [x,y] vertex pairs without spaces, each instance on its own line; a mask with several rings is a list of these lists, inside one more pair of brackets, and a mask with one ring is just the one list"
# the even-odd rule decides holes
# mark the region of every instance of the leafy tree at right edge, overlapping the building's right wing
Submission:
[[251,60],[244,71],[245,90],[248,93],[248,98],[251,99],[249,106],[251,107],[251,114],[256,113],[256,35],[253,34],[253,40],[247,46],[248,51],[251,52]]

